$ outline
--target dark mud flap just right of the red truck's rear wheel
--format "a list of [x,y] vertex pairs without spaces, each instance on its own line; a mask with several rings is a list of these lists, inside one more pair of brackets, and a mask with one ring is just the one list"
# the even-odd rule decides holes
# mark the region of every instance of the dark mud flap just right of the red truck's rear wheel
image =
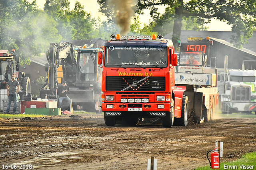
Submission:
[[194,92],[195,123],[202,122],[203,93]]

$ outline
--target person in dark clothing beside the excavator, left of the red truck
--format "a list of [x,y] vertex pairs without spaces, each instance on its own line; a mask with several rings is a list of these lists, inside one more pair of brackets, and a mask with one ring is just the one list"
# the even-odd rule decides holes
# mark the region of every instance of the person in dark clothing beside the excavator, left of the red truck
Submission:
[[[58,87],[58,96],[59,96],[59,104],[62,111],[65,111],[68,109],[68,106],[70,105],[71,99],[68,97],[68,94],[70,93],[68,85],[66,85],[66,81],[62,81],[61,86]],[[63,101],[66,101],[66,105],[63,105]]]

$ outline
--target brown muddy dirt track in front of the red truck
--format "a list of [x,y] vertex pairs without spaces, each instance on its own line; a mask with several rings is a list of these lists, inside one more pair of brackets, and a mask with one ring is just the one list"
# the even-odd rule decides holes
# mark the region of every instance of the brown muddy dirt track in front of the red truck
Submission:
[[[71,116],[71,117],[70,117]],[[106,127],[103,114],[0,119],[0,168],[38,170],[193,170],[209,164],[206,153],[224,142],[221,161],[256,151],[256,117],[216,119],[201,125],[161,124]],[[17,168],[18,169],[18,168]]]

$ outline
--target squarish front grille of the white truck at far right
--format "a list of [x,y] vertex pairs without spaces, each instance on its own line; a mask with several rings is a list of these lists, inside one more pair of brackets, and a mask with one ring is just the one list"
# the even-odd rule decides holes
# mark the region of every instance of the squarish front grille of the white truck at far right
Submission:
[[232,87],[232,101],[249,101],[250,87],[233,86]]

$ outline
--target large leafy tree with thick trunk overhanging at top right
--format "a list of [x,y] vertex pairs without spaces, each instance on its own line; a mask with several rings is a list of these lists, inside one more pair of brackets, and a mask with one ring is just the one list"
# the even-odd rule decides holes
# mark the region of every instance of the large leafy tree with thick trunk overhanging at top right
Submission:
[[[228,22],[232,26],[232,43],[236,47],[242,47],[248,38],[252,36],[252,30],[256,26],[255,0],[190,0],[184,3],[183,0],[138,0],[139,13],[144,9],[150,9],[151,17],[159,17],[157,6],[166,6],[168,9],[164,15],[171,14],[173,17],[174,44],[180,40],[182,21],[196,23],[204,29],[204,24],[209,23],[211,18],[217,18],[220,21]],[[200,27],[198,27],[200,28]]]

